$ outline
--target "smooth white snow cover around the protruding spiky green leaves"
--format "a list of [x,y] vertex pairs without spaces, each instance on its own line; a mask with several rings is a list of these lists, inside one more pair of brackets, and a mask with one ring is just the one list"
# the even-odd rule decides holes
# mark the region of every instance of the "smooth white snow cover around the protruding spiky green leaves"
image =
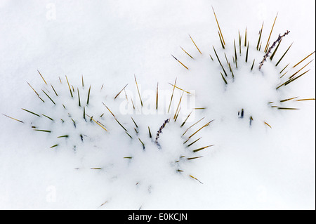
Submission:
[[[264,53],[256,51],[258,31],[264,22],[264,48],[275,15],[271,43],[278,34],[290,33],[272,62],[268,59],[259,71]],[[0,117],[1,209],[315,209],[315,100],[273,104],[300,110],[277,110],[268,104],[315,98],[314,60],[301,71],[310,72],[275,89],[282,83],[279,72],[287,63],[284,81],[298,70],[290,67],[315,51],[315,1],[1,1],[0,16],[1,113],[25,121]],[[237,70],[232,62],[234,39]],[[228,73],[228,85],[220,76],[223,70],[213,46]],[[299,68],[313,58],[315,54]],[[73,97],[65,75],[74,86]],[[191,94],[175,88],[168,113],[170,84],[175,80],[176,86]],[[196,107],[206,109],[193,110],[180,127]],[[242,109],[244,118],[239,118]],[[100,121],[107,131],[87,116]],[[166,119],[171,121],[159,135],[159,148],[154,139]],[[64,135],[69,138],[57,138]],[[192,152],[207,145],[213,146]],[[200,158],[186,159],[190,157]]]

